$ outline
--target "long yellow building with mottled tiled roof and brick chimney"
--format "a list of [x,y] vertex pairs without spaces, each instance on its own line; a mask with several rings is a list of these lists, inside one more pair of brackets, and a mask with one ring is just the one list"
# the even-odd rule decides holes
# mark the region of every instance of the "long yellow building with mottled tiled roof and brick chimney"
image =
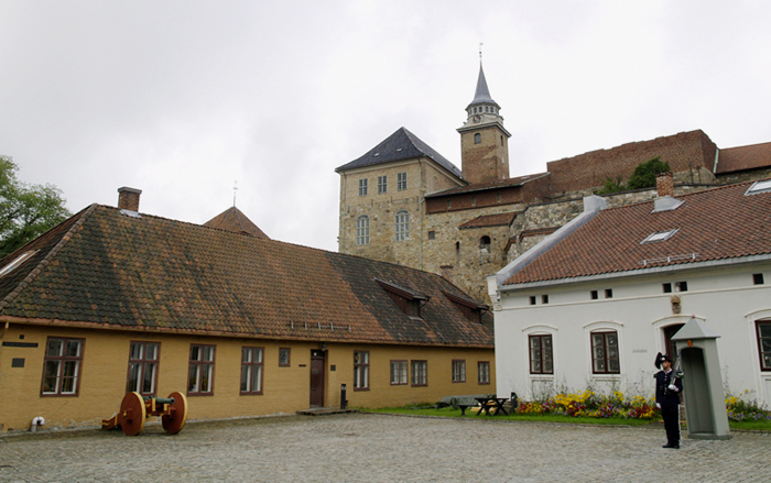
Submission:
[[127,392],[192,419],[495,387],[492,317],[417,270],[93,205],[0,260],[0,425],[99,424]]

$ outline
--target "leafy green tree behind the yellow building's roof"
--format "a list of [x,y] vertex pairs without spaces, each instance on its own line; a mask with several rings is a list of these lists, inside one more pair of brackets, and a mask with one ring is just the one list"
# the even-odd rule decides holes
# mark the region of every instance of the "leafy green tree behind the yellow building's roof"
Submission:
[[13,158],[0,155],[0,257],[66,220],[62,190],[53,185],[30,185],[17,179]]

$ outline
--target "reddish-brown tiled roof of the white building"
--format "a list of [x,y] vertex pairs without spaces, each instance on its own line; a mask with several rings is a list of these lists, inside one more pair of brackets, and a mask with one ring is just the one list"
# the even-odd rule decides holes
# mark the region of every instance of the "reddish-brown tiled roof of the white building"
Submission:
[[[653,212],[653,201],[605,209],[504,285],[771,254],[771,193],[746,196],[750,186],[682,195],[670,211]],[[675,229],[669,240],[641,243]]]

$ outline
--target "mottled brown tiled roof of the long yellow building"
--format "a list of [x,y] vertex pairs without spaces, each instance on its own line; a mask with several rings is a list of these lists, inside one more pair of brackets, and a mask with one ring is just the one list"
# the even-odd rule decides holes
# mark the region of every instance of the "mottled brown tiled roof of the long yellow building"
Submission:
[[[93,205],[15,253],[0,320],[215,336],[492,348],[445,278],[382,262]],[[403,314],[376,278],[431,297]]]

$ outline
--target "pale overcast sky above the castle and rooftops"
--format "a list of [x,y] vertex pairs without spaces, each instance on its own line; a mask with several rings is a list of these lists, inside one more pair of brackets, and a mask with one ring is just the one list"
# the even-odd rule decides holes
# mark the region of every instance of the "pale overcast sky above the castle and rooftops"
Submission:
[[0,0],[0,154],[76,212],[337,250],[339,176],[400,127],[460,167],[479,43],[511,176],[702,129],[771,141],[771,2]]

